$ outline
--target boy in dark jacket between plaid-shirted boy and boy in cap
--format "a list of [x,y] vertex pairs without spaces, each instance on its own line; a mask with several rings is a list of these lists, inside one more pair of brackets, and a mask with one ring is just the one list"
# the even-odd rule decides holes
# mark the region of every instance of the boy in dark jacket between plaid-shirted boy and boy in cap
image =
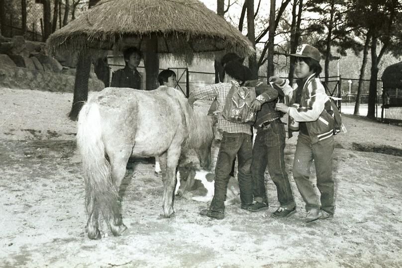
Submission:
[[263,91],[273,92],[268,102],[264,103],[257,113],[254,128],[257,131],[253,146],[253,162],[251,174],[253,178],[254,204],[248,207],[250,211],[260,211],[269,208],[265,187],[265,169],[277,188],[280,207],[272,213],[274,217],[284,218],[296,212],[296,203],[288,173],[285,170],[285,126],[281,121],[283,113],[275,110],[279,94],[284,96],[282,90],[275,90],[267,83],[251,80],[245,86],[253,86],[257,95]]

